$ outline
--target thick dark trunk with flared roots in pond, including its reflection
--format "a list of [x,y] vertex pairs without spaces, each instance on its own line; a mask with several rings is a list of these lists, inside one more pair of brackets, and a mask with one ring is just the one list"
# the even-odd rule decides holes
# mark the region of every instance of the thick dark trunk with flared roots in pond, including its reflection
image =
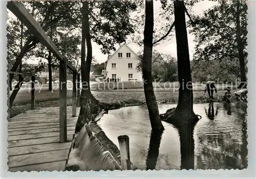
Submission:
[[174,124],[180,134],[181,169],[194,169],[194,126],[198,121],[193,111],[193,88],[191,83],[189,50],[187,41],[185,6],[183,1],[174,1],[175,33],[177,43],[179,100],[167,121]]

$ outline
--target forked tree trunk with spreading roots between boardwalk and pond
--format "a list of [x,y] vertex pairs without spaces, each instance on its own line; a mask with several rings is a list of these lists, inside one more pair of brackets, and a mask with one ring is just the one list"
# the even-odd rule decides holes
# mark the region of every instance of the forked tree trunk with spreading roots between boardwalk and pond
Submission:
[[[98,111],[99,102],[90,91],[90,70],[92,63],[92,43],[89,28],[89,2],[82,2],[82,39],[81,39],[81,82],[80,113],[76,123],[75,133],[79,132],[91,114]],[[87,58],[86,58],[87,44]]]

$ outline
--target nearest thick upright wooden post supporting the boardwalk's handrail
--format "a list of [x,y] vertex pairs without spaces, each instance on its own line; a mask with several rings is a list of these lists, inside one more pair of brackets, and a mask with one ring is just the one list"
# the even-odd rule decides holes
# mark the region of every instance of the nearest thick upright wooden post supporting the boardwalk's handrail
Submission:
[[59,142],[67,142],[67,60],[59,64]]

